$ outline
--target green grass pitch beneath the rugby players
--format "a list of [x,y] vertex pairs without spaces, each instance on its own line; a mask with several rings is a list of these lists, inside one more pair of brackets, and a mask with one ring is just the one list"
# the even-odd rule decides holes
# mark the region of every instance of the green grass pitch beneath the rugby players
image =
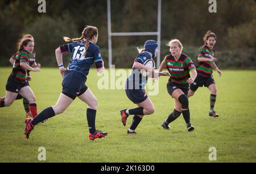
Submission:
[[[11,68],[0,68],[0,96]],[[167,78],[160,78],[158,96],[151,96],[155,113],[143,118],[137,135],[127,135],[131,117],[123,127],[119,110],[133,108],[124,90],[99,90],[96,71],[90,71],[86,85],[98,98],[96,126],[109,136],[90,141],[86,105],[76,99],[61,115],[38,125],[30,139],[24,138],[22,100],[0,109],[0,162],[39,162],[38,148],[46,148],[46,162],[212,162],[210,147],[217,148],[217,162],[256,162],[256,71],[214,72],[218,92],[218,118],[210,118],[209,90],[200,88],[189,99],[195,131],[187,132],[181,116],[170,131],[160,126],[173,110],[166,90]],[[61,92],[57,68],[31,73],[38,111],[55,105]]]

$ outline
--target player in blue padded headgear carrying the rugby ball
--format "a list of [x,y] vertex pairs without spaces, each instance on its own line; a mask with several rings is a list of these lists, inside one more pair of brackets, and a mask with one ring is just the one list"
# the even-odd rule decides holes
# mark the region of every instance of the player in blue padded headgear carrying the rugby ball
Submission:
[[[147,40],[144,44],[144,48],[139,49],[139,55],[134,60],[133,71],[126,80],[126,96],[130,101],[137,105],[134,109],[122,109],[120,111],[121,121],[123,126],[126,126],[126,120],[129,115],[134,115],[133,121],[131,122],[130,129],[127,130],[127,134],[136,134],[135,129],[142,121],[144,115],[150,115],[154,113],[155,107],[147,96],[144,86],[147,83],[149,77],[159,77],[159,76],[169,76],[167,72],[155,72],[155,67],[146,67],[144,63],[152,58],[156,57],[158,53],[158,43],[155,40]],[[146,77],[143,76],[142,71],[147,71],[148,74]]]

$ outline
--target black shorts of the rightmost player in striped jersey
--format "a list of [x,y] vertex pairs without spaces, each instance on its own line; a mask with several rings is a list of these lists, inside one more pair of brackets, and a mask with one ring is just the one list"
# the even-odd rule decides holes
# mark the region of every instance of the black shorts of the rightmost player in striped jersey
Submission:
[[203,77],[197,75],[196,80],[190,85],[189,89],[196,91],[197,88],[202,87],[203,85],[208,88],[212,84],[215,84],[213,76]]

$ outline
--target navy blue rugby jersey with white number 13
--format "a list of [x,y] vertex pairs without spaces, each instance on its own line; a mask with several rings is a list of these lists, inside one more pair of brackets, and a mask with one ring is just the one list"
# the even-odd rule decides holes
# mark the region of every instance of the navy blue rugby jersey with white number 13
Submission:
[[72,53],[71,60],[67,68],[68,71],[76,71],[84,76],[88,75],[93,63],[102,61],[100,47],[92,42],[89,43],[85,56],[83,56],[85,52],[85,43],[82,41],[62,45],[60,46],[60,49],[63,53]]

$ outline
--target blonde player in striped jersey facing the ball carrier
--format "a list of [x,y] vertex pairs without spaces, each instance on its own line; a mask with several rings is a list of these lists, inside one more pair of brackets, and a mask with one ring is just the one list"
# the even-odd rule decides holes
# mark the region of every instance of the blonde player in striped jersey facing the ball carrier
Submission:
[[[187,130],[193,131],[195,128],[190,122],[187,95],[189,84],[192,84],[197,76],[196,68],[191,58],[182,53],[183,45],[179,40],[173,39],[167,45],[170,46],[171,54],[164,58],[159,71],[163,71],[164,67],[167,67],[171,75],[167,83],[167,91],[174,98],[175,104],[174,111],[162,123],[162,127],[170,129],[171,126],[169,124],[175,121],[182,113],[187,124]],[[189,72],[191,72],[192,77],[190,77]]]

